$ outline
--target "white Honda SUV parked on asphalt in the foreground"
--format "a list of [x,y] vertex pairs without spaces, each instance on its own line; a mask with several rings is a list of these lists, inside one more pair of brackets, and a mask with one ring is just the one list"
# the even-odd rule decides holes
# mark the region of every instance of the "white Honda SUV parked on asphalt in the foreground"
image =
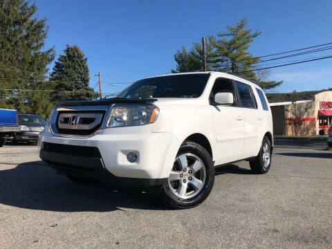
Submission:
[[139,80],[116,98],[61,102],[39,135],[39,156],[74,182],[154,190],[173,208],[202,203],[214,167],[248,160],[268,172],[273,123],[259,86],[227,73]]

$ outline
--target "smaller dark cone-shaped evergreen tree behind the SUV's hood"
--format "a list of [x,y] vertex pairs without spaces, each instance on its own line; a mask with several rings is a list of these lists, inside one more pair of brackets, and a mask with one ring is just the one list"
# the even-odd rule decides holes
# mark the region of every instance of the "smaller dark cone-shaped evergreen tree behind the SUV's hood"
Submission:
[[55,82],[53,101],[92,100],[98,93],[89,87],[87,58],[77,45],[67,45],[64,55],[59,55],[50,81]]

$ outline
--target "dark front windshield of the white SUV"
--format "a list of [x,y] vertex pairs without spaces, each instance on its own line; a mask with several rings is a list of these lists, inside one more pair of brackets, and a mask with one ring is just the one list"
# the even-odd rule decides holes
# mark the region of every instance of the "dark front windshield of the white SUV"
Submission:
[[195,73],[139,80],[117,98],[199,98],[209,77],[208,73]]

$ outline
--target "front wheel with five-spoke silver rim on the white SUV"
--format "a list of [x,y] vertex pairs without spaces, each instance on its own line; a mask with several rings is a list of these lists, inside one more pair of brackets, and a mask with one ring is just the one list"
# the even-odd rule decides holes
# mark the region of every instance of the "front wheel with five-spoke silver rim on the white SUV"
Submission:
[[178,150],[160,198],[170,208],[194,208],[209,196],[213,184],[212,157],[201,145],[186,140]]

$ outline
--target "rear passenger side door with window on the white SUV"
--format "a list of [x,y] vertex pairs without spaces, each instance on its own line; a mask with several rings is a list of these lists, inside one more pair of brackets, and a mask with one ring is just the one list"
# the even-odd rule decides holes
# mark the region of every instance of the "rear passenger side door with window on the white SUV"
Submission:
[[243,158],[257,156],[257,149],[260,147],[261,110],[257,107],[252,87],[249,84],[238,81],[235,81],[235,84],[239,93],[239,102],[244,118]]

